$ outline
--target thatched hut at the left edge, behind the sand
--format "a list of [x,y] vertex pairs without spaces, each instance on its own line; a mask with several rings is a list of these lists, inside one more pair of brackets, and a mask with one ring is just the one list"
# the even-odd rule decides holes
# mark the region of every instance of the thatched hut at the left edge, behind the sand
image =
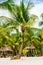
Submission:
[[0,57],[7,57],[11,55],[13,50],[11,48],[8,48],[7,46],[0,48]]

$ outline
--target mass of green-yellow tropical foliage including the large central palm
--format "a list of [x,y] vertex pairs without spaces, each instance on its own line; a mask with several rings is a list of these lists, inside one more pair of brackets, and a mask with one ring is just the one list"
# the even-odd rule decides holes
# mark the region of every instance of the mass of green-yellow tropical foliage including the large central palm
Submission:
[[[8,10],[11,15],[0,16],[0,48],[3,45],[10,47],[16,58],[29,52],[25,47],[32,44],[35,46],[36,56],[43,55],[43,28],[32,27],[38,19],[38,16],[29,13],[33,6],[31,1],[25,6],[24,0],[20,1],[20,5],[15,4],[13,0],[0,3],[0,8]],[[41,16],[43,20],[43,14]],[[40,25],[42,24],[43,21]]]

